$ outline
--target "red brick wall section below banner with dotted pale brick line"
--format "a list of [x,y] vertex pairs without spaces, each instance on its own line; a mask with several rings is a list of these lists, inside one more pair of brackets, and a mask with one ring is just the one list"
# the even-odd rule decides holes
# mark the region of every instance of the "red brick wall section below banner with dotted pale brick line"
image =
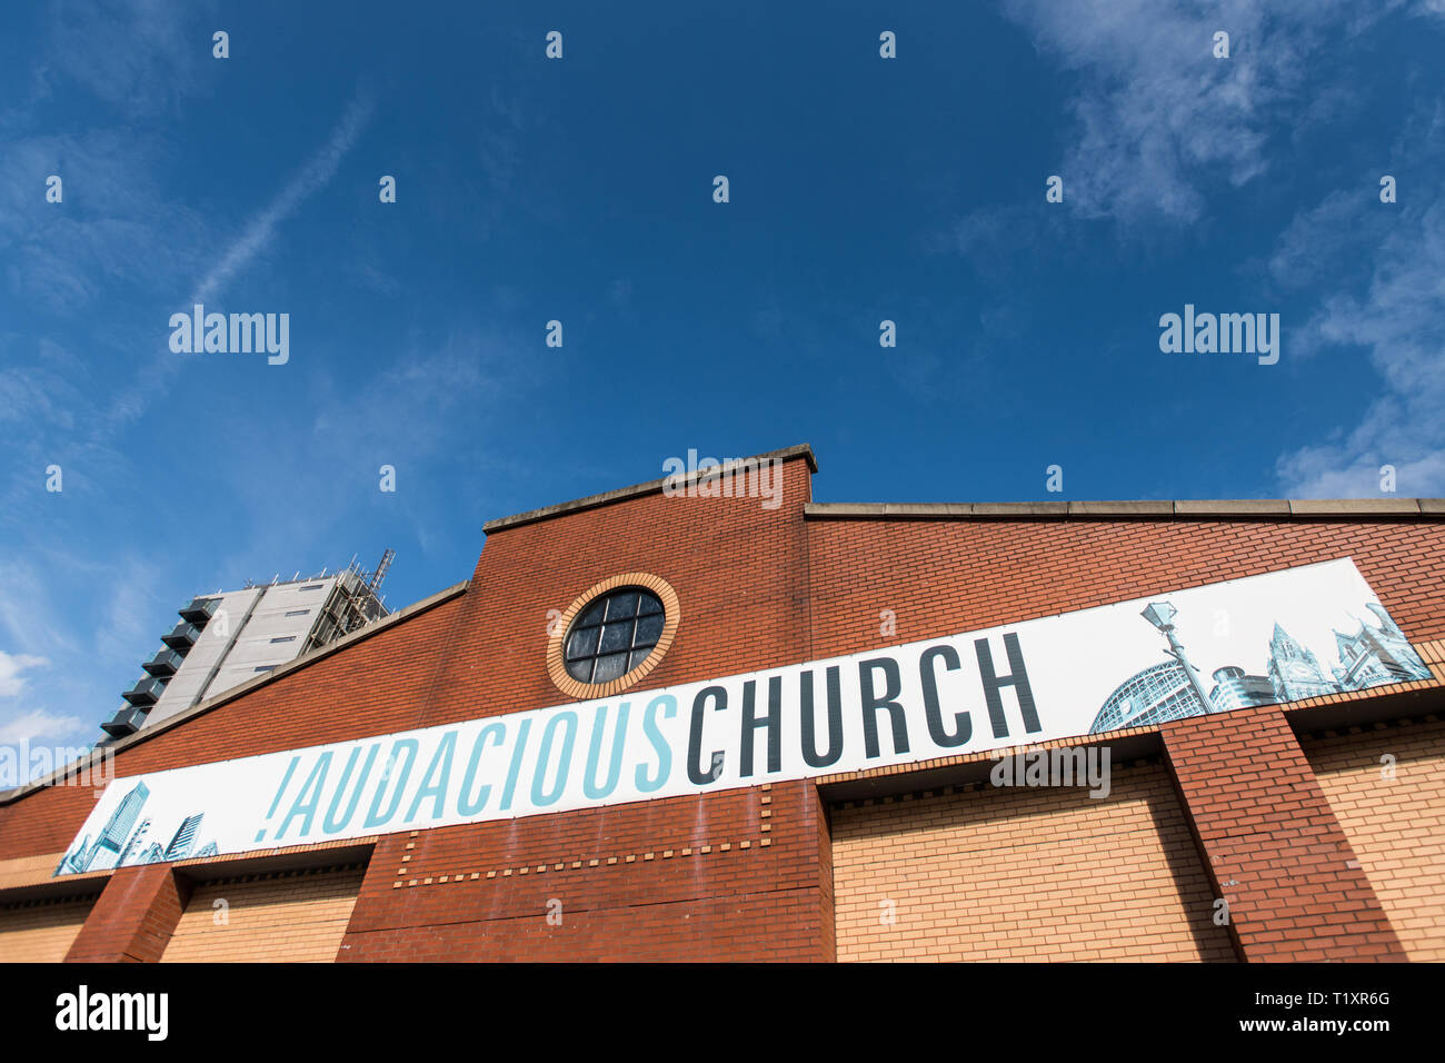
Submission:
[[788,782],[393,834],[340,959],[832,959],[819,814]]

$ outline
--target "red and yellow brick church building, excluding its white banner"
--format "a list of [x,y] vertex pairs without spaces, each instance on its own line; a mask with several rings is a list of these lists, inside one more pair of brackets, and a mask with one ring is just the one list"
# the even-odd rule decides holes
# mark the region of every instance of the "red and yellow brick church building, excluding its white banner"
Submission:
[[[819,505],[806,447],[762,458],[766,505],[653,482],[488,524],[470,580],[121,739],[114,785],[1345,557],[1429,677],[1043,742],[1108,746],[1103,800],[991,785],[993,748],[56,875],[97,804],[56,777],[0,804],[0,955],[1445,959],[1445,503]],[[558,646],[620,587],[663,612],[610,678],[601,628]]]

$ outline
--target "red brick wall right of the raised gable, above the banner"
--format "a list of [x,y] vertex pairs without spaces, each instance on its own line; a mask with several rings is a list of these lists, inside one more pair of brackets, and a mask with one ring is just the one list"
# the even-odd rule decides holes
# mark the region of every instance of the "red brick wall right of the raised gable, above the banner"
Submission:
[[[808,522],[816,657],[1353,557],[1413,641],[1445,635],[1445,522]],[[897,635],[879,613],[897,615]]]

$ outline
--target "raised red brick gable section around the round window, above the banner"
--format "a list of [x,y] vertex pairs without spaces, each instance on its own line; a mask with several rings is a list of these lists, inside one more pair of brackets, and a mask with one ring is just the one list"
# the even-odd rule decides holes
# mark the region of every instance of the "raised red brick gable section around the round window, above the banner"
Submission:
[[657,493],[490,535],[426,725],[572,700],[546,674],[548,610],[626,571],[660,576],[682,603],[646,688],[806,659],[808,466],[786,461],[782,476],[772,511],[759,499]]

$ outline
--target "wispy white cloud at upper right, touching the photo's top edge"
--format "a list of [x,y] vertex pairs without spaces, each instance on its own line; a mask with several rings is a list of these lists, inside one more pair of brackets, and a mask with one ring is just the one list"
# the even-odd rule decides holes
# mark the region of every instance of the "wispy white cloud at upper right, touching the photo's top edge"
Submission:
[[[1078,74],[1075,129],[1058,172],[1082,217],[1186,224],[1207,189],[1269,168],[1282,106],[1298,104],[1327,29],[1360,33],[1402,0],[1358,14],[1347,0],[1007,0],[1035,45]],[[1230,33],[1230,58],[1212,55]],[[1298,110],[1298,108],[1295,108]],[[1290,113],[1290,120],[1298,117]]]

